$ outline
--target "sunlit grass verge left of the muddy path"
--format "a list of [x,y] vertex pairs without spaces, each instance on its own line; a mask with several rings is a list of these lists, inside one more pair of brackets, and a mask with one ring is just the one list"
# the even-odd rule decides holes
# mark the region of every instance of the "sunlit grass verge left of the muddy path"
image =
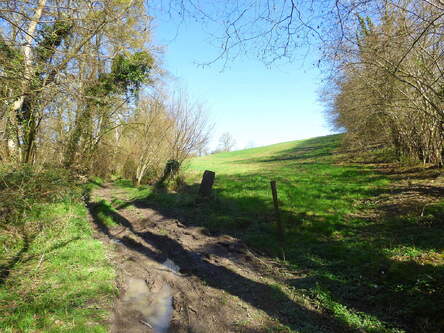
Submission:
[[0,229],[1,332],[107,331],[116,275],[75,193]]

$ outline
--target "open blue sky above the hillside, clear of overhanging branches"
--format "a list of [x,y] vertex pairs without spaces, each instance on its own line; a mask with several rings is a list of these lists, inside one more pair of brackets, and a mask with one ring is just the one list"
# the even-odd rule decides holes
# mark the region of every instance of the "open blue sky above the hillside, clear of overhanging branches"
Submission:
[[321,74],[313,66],[315,55],[267,67],[250,54],[235,57],[225,67],[222,61],[202,67],[199,64],[214,59],[220,49],[199,23],[178,27],[157,18],[153,39],[165,46],[163,68],[173,77],[172,86],[184,88],[205,105],[215,124],[211,149],[223,132],[231,133],[237,149],[331,133],[318,102]]

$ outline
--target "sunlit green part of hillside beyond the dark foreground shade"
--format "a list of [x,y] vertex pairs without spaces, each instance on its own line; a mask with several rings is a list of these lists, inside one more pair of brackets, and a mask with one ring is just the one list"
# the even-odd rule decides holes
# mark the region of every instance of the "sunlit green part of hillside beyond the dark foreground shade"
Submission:
[[[359,200],[389,183],[372,168],[336,163],[344,157],[337,151],[340,139],[334,135],[196,158],[189,165],[188,180],[199,181],[205,169],[215,171],[216,196],[227,220],[244,217],[252,224],[265,222],[262,227],[274,221],[270,181],[276,180],[288,238],[300,234],[301,228],[330,235],[350,223]],[[217,220],[225,217],[217,214],[214,227],[224,225]],[[267,248],[277,244],[268,233],[261,241]],[[291,248],[288,251],[291,256]]]

